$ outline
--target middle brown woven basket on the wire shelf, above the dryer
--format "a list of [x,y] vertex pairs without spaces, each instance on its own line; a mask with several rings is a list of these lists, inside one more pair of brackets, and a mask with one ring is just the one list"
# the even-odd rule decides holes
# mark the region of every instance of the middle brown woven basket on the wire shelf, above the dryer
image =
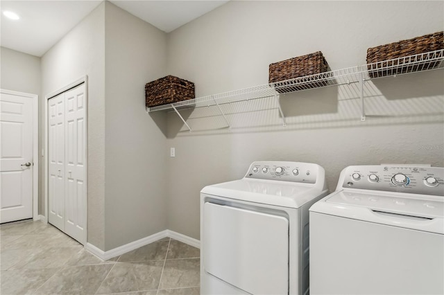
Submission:
[[[288,87],[278,82],[290,80],[305,75],[314,75],[328,71],[327,60],[321,51],[275,62],[268,67],[268,82],[275,83],[276,91],[280,93],[290,92],[294,90],[302,90],[307,88],[316,88],[327,85],[326,82],[318,82],[316,84],[305,84],[303,87]],[[283,87],[283,88],[280,88]]]

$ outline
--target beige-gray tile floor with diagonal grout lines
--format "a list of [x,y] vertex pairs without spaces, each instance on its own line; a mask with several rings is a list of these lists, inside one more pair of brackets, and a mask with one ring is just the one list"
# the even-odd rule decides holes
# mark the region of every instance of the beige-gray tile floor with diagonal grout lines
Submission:
[[199,294],[200,252],[164,238],[103,261],[50,224],[0,225],[0,294]]

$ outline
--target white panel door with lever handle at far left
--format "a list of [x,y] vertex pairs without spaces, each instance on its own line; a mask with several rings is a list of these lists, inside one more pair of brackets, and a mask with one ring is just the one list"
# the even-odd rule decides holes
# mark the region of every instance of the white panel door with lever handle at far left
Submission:
[[0,96],[1,223],[33,217],[33,100]]

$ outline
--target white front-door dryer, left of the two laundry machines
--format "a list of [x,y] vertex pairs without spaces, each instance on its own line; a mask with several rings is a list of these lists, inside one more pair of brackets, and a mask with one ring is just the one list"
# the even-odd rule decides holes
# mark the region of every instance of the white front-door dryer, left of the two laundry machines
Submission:
[[287,161],[203,188],[200,293],[308,293],[308,208],[325,195],[321,166]]

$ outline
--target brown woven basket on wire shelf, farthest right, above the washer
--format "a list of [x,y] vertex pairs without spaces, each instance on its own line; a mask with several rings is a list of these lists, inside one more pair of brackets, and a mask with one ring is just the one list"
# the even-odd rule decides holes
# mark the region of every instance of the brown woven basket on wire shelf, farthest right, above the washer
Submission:
[[[402,60],[388,61],[397,59],[399,57],[406,57],[409,55],[416,55],[426,53],[429,51],[437,51],[444,49],[444,35],[443,32],[436,32],[413,39],[402,40],[400,42],[393,42],[367,49],[367,64],[374,62],[381,62],[379,64],[368,65],[370,78],[382,77],[386,75],[395,75],[405,73],[407,71],[417,71],[418,66],[402,66]],[[387,60],[387,62],[383,62]],[[393,69],[384,71],[377,71],[379,67],[393,66]],[[429,64],[421,64],[423,69],[430,69],[430,67],[438,66],[438,63],[431,62]]]

